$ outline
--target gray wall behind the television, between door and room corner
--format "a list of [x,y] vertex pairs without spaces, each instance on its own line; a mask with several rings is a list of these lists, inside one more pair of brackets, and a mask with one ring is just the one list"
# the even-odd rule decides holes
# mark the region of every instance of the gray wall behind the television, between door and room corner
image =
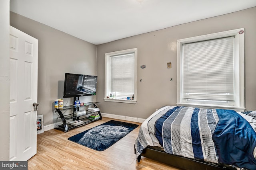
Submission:
[[[63,99],[65,73],[96,75],[96,45],[13,12],[10,25],[38,39],[38,115],[43,114],[44,125],[50,125],[57,117],[54,100]],[[70,105],[70,99],[65,98],[64,104]],[[80,100],[96,101],[96,97]]]

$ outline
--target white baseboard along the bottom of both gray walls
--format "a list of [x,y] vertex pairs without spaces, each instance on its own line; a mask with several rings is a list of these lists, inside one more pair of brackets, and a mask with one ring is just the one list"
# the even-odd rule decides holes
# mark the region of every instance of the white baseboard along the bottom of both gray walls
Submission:
[[[146,120],[146,119],[142,119],[142,118],[138,118],[138,117],[114,115],[114,114],[110,114],[110,113],[101,113],[101,115],[102,115],[102,117],[108,117],[108,118],[120,119],[120,120],[127,120],[127,121],[133,121],[133,122],[138,122],[138,123],[143,123]],[[61,125],[62,121],[59,121],[57,124]],[[54,127],[56,127],[55,123],[52,123],[50,125],[45,125],[44,126],[44,131],[54,129]]]

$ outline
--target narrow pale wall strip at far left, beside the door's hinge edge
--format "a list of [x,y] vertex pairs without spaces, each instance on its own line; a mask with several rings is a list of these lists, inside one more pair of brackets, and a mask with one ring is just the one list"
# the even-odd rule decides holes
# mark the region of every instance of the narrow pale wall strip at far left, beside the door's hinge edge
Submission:
[[9,160],[10,146],[9,8],[9,0],[0,1],[0,161]]

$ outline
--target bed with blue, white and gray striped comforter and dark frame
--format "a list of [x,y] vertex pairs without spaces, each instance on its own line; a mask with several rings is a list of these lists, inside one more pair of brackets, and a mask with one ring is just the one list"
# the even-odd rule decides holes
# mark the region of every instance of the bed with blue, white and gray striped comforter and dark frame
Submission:
[[256,170],[255,125],[254,117],[234,110],[164,106],[142,123],[136,160],[145,156],[189,170]]

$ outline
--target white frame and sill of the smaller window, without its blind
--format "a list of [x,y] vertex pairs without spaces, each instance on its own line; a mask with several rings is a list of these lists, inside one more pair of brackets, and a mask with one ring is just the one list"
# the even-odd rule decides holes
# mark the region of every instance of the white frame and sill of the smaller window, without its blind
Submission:
[[[104,81],[104,101],[105,102],[120,102],[120,103],[137,103],[137,48],[126,49],[121,51],[114,51],[105,53],[105,81]],[[124,55],[134,53],[134,100],[126,100],[122,98],[107,98],[110,94],[110,58],[116,55]],[[130,96],[132,97],[132,96]]]

